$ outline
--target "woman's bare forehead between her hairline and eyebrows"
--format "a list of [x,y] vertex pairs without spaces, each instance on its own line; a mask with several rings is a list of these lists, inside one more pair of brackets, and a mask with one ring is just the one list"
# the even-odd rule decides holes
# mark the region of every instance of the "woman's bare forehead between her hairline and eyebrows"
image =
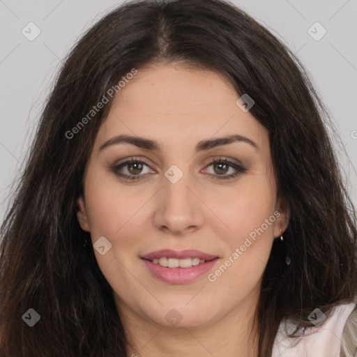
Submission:
[[114,97],[98,137],[128,133],[158,142],[195,142],[239,134],[264,146],[266,130],[237,105],[238,94],[220,73],[178,65],[138,70]]

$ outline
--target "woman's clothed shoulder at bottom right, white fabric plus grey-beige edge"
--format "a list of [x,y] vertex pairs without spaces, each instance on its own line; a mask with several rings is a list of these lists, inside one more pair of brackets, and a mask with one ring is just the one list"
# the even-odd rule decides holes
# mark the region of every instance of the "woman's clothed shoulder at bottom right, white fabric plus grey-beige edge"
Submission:
[[320,324],[326,321],[321,326],[307,328],[301,337],[287,337],[294,332],[295,326],[289,320],[282,321],[272,357],[354,357],[357,349],[357,299],[336,305],[328,319],[321,311],[317,313]]

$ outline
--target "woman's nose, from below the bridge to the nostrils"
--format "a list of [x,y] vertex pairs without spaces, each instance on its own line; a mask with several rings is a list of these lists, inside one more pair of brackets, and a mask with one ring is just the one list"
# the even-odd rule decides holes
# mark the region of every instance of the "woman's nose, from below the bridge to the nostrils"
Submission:
[[170,235],[184,236],[197,231],[204,223],[202,190],[193,185],[189,174],[183,174],[176,183],[162,177],[153,215],[155,227]]

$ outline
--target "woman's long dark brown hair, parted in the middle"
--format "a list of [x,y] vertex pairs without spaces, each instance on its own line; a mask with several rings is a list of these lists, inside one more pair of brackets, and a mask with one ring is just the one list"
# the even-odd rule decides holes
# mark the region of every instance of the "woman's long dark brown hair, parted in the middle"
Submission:
[[[112,289],[76,218],[111,102],[74,137],[66,132],[132,68],[176,61],[224,74],[239,96],[255,100],[250,112],[269,132],[278,195],[291,218],[264,271],[259,356],[271,356],[282,319],[310,326],[312,310],[328,315],[356,295],[356,212],[326,131],[328,113],[296,56],[225,1],[130,2],[75,45],[40,118],[1,227],[1,357],[126,356]],[[29,308],[40,315],[32,328],[22,319]]]

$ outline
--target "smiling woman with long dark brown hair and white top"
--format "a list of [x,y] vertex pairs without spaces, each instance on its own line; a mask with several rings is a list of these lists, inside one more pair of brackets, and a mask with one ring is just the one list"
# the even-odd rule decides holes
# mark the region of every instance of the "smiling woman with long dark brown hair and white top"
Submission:
[[3,223],[0,356],[353,356],[325,116],[229,3],[113,10],[63,64]]

